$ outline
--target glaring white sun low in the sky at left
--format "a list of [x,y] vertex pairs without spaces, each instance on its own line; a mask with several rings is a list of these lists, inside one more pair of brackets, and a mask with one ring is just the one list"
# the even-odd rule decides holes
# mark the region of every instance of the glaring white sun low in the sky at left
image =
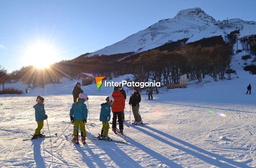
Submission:
[[57,62],[59,60],[58,58],[57,49],[53,45],[37,42],[28,47],[24,61],[36,68],[47,68]]

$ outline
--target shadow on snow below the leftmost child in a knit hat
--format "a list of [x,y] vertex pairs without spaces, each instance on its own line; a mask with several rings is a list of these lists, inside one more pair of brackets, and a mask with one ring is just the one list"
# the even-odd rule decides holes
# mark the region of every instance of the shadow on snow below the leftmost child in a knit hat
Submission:
[[44,141],[44,138],[39,138],[32,141],[33,150],[34,150],[34,160],[37,168],[45,168],[45,161],[41,155],[42,141]]

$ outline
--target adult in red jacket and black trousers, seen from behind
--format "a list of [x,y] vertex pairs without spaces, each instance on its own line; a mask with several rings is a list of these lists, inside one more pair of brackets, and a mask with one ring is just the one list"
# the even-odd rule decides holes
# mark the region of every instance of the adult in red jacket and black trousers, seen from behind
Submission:
[[119,133],[123,134],[123,110],[125,108],[125,97],[121,94],[118,87],[114,87],[114,91],[111,96],[114,98],[111,111],[113,112],[112,131],[116,134],[117,118],[119,123]]

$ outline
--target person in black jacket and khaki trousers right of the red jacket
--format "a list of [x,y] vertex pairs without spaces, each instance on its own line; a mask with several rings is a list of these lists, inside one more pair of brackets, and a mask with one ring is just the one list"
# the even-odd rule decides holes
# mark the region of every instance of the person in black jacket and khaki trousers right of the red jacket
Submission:
[[135,121],[132,124],[141,124],[142,118],[138,112],[139,103],[141,102],[141,95],[137,87],[133,88],[133,94],[131,94],[129,104],[131,105],[132,113]]

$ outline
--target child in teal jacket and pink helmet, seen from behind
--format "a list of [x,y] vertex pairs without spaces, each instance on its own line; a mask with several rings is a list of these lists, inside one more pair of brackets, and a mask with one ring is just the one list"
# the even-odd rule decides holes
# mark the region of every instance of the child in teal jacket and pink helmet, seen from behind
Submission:
[[87,113],[88,110],[86,108],[86,104],[84,104],[85,101],[88,100],[88,96],[85,93],[80,93],[76,103],[72,105],[72,108],[70,109],[70,120],[74,121],[74,131],[73,131],[73,140],[75,143],[78,142],[78,130],[80,125],[80,131],[81,131],[81,137],[82,137],[82,143],[85,143],[86,138],[86,131],[85,131],[85,123],[87,122]]

